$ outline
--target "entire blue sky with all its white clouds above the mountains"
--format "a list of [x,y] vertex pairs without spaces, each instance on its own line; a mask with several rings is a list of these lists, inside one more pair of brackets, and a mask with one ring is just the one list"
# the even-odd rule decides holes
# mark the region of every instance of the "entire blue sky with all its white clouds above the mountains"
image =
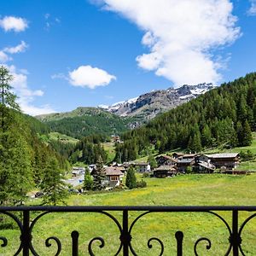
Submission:
[[65,112],[256,71],[256,1],[1,1],[0,38],[22,110]]

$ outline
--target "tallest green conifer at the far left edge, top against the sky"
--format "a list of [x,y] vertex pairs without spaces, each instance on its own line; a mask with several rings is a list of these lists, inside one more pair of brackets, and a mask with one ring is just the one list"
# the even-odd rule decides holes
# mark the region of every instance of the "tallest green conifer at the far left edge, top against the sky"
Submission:
[[16,96],[10,91],[12,76],[0,67],[0,204],[21,204],[32,188],[32,150],[28,131],[20,120]]

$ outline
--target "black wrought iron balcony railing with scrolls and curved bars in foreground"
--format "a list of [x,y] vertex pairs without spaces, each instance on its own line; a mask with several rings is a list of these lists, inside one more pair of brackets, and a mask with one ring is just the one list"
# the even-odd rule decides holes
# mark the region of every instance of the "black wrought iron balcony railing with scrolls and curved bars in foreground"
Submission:
[[[156,212],[166,212],[166,214],[178,212],[180,213],[181,219],[183,218],[182,215],[184,212],[189,212],[189,214],[193,212],[194,214],[200,214],[200,216],[202,213],[210,214],[212,218],[218,218],[224,225],[224,230],[227,233],[226,250],[224,253],[218,253],[218,255],[247,255],[247,250],[243,249],[243,246],[247,245],[246,239],[243,238],[243,230],[256,216],[256,207],[0,207],[0,214],[2,216],[0,222],[3,224],[6,218],[11,218],[17,226],[16,230],[20,233],[19,241],[17,241],[18,248],[15,253],[13,253],[14,255],[42,255],[42,253],[38,253],[36,249],[36,241],[34,241],[33,238],[33,231],[41,218],[46,215],[50,216],[55,212],[62,212],[64,216],[68,212],[75,212],[75,214],[80,212],[82,216],[87,213],[96,214],[97,212],[109,218],[109,220],[116,226],[117,230],[119,230],[118,247],[114,249],[114,252],[111,255],[140,255],[140,252],[137,252],[136,248],[133,247],[133,232],[136,224],[142,221],[148,214],[151,215],[151,218],[154,218],[154,213]],[[120,218],[115,216],[117,212],[119,212],[119,215],[121,216]],[[245,215],[245,212],[246,218],[243,218],[242,221],[240,221],[240,214]],[[227,213],[230,213],[229,219],[226,219],[226,216],[229,215]],[[156,215],[155,218],[157,218]],[[0,226],[3,227],[3,225]],[[172,255],[183,255],[183,238],[186,236],[186,231],[188,231],[189,228],[189,226],[186,226],[185,228],[183,227],[183,230],[175,231],[175,237],[173,237],[175,240],[175,243],[173,243],[175,245],[173,252],[175,252],[175,254]],[[11,255],[8,253],[9,238],[4,236],[5,231],[5,228],[1,228],[0,230],[0,241],[2,241],[0,255]],[[46,238],[45,247],[51,247],[53,244],[55,245],[55,252],[51,255],[64,255],[65,253],[65,255],[73,256],[82,255],[82,253],[79,253],[79,236],[82,232],[86,232],[86,230],[73,230],[71,234],[67,234],[67,239],[70,239],[71,244],[68,251],[67,248],[63,249],[62,241],[57,236],[49,236]],[[141,230],[141,232],[143,232],[143,230]],[[251,244],[256,244],[255,234],[250,235],[254,235],[253,237],[250,237]],[[167,234],[166,236],[170,236],[170,234]],[[212,241],[208,237],[197,238],[196,241],[193,242],[194,247],[191,252],[195,255],[214,255],[198,253],[198,247],[202,242],[206,245],[206,252],[209,253],[211,251]],[[100,248],[105,246],[105,241],[102,236],[92,237],[88,242],[88,247],[86,249],[87,254],[96,255],[94,252],[95,243],[97,243]],[[150,251],[153,244],[157,244],[159,248],[158,252],[154,254],[151,253],[153,251]],[[148,255],[170,255],[170,253],[166,253],[166,244],[159,237],[153,236],[148,238],[147,249],[149,250],[147,253]],[[2,253],[1,250],[4,250],[4,253]],[[44,253],[44,255],[49,254]],[[217,254],[215,253],[215,255]],[[249,252],[249,255],[256,255],[256,251]]]

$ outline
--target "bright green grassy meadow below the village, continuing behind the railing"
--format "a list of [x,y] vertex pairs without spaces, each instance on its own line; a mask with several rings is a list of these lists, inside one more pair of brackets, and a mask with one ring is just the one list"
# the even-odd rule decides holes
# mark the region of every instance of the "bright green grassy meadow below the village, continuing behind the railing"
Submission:
[[[72,195],[68,205],[79,206],[255,206],[256,205],[256,174],[247,176],[184,175],[166,179],[144,178],[148,187],[144,189],[105,192],[93,195]],[[34,201],[37,203],[38,201]],[[230,212],[218,212],[230,224]],[[243,212],[240,222],[252,213]],[[113,212],[121,222],[121,212]],[[139,212],[129,214],[130,221]],[[130,222],[131,224],[131,222]],[[105,247],[99,248],[95,242],[96,255],[113,255],[119,247],[119,232],[113,222],[100,213],[50,213],[41,218],[33,230],[33,241],[39,255],[54,255],[53,248],[45,247],[44,241],[49,236],[61,239],[61,255],[71,255],[71,232],[79,230],[79,255],[88,255],[90,239],[102,236]],[[175,232],[184,233],[184,255],[194,255],[195,241],[200,237],[208,237],[212,247],[207,251],[207,243],[201,242],[199,255],[223,255],[228,248],[228,231],[224,224],[209,213],[154,213],[141,218],[131,233],[132,246],[137,255],[159,255],[160,246],[153,242],[153,247],[147,247],[148,239],[160,238],[165,244],[164,255],[176,255]],[[256,219],[252,220],[244,230],[243,248],[246,255],[256,254]],[[0,236],[9,235],[9,247],[15,247],[19,239],[17,230],[6,230]],[[3,254],[1,254],[3,252]],[[13,255],[2,249],[0,255]]]

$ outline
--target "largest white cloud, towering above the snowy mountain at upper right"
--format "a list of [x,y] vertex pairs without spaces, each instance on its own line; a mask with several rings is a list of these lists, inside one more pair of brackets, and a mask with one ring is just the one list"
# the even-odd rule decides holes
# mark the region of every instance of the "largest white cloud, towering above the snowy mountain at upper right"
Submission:
[[[175,85],[217,83],[221,62],[212,49],[241,36],[230,0],[102,0],[103,8],[119,13],[145,32],[149,53],[137,64]],[[94,1],[99,3],[99,1]]]

